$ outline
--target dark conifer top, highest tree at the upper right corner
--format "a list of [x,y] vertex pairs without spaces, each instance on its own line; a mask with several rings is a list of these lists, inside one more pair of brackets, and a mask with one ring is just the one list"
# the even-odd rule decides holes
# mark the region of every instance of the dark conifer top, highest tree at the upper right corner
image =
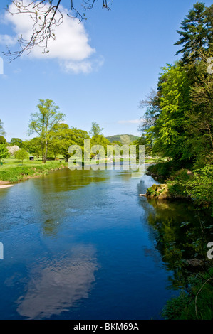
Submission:
[[205,7],[203,2],[197,2],[186,18],[182,21],[177,33],[181,38],[175,45],[182,45],[176,55],[182,53],[183,63],[192,63],[204,57],[205,51],[210,47],[213,38],[212,10]]

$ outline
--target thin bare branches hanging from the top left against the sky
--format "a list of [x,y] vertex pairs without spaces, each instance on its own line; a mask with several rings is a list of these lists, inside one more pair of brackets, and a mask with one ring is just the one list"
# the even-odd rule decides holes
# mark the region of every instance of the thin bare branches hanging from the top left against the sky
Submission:
[[[74,6],[75,0],[70,0],[71,11],[73,16],[67,14],[71,18],[78,18],[80,23],[85,17],[85,13],[80,13]],[[20,46],[19,51],[11,52],[4,55],[9,55],[11,60],[20,57],[23,53],[30,53],[32,48],[36,45],[41,46],[43,53],[48,53],[48,41],[56,39],[56,28],[63,23],[63,14],[60,5],[65,2],[64,0],[31,0],[28,3],[24,0],[13,0],[12,5],[7,6],[7,11],[11,15],[26,14],[31,17],[32,20],[32,34],[31,37],[26,40],[23,36],[19,36],[18,42]],[[92,9],[95,4],[95,0],[84,0],[83,9]],[[108,1],[103,0],[103,8],[110,10]]]

